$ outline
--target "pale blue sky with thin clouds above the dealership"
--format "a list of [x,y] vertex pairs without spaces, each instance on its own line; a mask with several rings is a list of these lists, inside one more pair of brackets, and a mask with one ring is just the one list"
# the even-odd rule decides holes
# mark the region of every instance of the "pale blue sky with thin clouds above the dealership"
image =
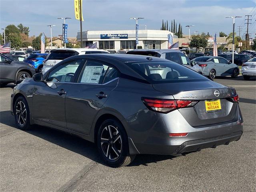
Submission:
[[[131,17],[144,17],[139,20],[139,29],[159,30],[162,19],[180,23],[183,34],[188,34],[186,25],[195,25],[194,31],[209,32],[212,36],[220,31],[232,32],[232,19],[242,26],[241,36],[246,32],[245,15],[252,15],[249,33],[256,33],[256,0],[83,0],[82,30],[132,30],[135,20]],[[30,28],[30,36],[44,32],[50,36],[62,33],[63,20],[59,17],[71,17],[68,24],[68,37],[76,37],[80,31],[79,20],[74,19],[74,0],[0,0],[0,27],[22,23]],[[254,37],[252,36],[252,37]]]

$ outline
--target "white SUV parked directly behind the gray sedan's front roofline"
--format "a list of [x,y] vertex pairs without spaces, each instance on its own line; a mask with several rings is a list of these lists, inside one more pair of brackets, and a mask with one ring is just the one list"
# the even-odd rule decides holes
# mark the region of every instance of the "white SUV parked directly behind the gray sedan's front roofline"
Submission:
[[96,54],[103,53],[109,54],[106,50],[100,49],[88,49],[88,48],[60,48],[51,50],[50,54],[47,56],[46,60],[43,61],[42,73],[44,74],[48,71],[52,66],[56,65],[58,62],[62,60],[75,56],[75,55],[84,55],[84,54]]

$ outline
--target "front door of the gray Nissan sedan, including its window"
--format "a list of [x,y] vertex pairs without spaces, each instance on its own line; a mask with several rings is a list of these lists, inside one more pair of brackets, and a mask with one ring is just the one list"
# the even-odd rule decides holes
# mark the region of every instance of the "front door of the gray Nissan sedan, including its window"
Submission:
[[35,84],[32,98],[35,120],[66,128],[66,94],[83,63],[83,59],[69,60],[50,69],[45,81]]

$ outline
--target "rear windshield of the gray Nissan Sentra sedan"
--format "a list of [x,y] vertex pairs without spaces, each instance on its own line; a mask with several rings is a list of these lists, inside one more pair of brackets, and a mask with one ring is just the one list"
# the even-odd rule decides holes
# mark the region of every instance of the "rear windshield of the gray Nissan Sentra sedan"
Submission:
[[208,81],[199,73],[175,62],[136,62],[127,65],[152,84]]

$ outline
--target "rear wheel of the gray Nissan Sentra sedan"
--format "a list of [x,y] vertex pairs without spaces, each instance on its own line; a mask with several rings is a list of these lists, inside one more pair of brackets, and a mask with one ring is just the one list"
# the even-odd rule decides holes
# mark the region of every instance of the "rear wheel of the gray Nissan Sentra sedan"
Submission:
[[115,119],[102,122],[97,134],[97,146],[106,164],[114,168],[127,166],[136,156],[129,154],[124,126]]

